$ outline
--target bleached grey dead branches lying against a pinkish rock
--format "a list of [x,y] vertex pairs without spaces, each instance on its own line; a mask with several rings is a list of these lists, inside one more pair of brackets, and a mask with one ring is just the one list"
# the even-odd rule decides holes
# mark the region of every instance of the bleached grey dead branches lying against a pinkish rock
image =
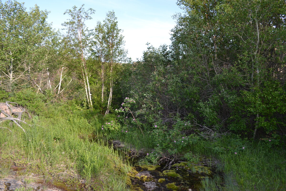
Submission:
[[[15,104],[15,106],[11,104]],[[0,103],[0,121],[11,120],[24,132],[26,132],[25,129],[23,129],[23,127],[20,125],[21,122],[27,124],[21,119],[23,113],[27,113],[29,118],[32,119],[31,115],[17,103],[10,101],[6,101],[6,103]]]

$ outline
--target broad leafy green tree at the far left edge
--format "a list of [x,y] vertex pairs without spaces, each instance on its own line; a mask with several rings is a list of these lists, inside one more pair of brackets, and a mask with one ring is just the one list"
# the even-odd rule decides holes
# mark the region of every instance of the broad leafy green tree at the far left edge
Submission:
[[[56,62],[58,35],[47,23],[48,12],[26,11],[17,1],[0,2],[0,78],[9,92],[36,85],[35,78]],[[23,86],[24,85],[24,86]]]

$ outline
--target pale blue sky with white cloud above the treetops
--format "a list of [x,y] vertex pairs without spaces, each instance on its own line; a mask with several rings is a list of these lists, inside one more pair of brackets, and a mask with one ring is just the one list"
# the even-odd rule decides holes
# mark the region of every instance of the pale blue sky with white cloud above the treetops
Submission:
[[[96,26],[98,21],[103,21],[108,11],[114,11],[118,21],[118,28],[122,29],[125,40],[125,49],[128,57],[133,61],[142,57],[147,50],[146,43],[154,47],[162,44],[169,45],[170,30],[176,25],[172,16],[182,10],[176,5],[176,0],[17,0],[25,3],[24,6],[34,7],[35,4],[41,10],[50,11],[47,22],[52,23],[53,28],[61,29],[61,23],[68,19],[63,15],[66,9],[72,9],[75,5],[84,4],[85,9],[95,9],[92,20],[86,21],[89,29]],[[4,1],[1,0],[3,3]]]

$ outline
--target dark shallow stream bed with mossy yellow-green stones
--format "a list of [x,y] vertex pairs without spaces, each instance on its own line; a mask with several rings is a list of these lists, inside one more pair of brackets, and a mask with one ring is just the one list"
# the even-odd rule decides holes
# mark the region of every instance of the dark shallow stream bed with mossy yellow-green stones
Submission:
[[126,184],[131,191],[199,191],[201,180],[211,178],[214,174],[213,169],[207,166],[186,162],[167,166],[166,164],[142,165],[142,163],[140,165],[139,161],[146,155],[144,150],[137,151],[136,156],[132,157],[135,153],[133,148],[126,149],[120,141],[113,141],[112,145],[133,166],[126,178]]

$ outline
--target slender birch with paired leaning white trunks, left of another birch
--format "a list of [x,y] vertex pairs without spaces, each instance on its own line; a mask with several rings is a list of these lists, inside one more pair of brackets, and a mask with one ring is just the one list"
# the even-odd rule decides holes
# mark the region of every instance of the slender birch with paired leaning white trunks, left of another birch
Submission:
[[[65,39],[68,41],[69,53],[73,58],[79,60],[80,62],[80,73],[82,75],[82,84],[86,92],[86,99],[88,106],[92,106],[92,94],[90,92],[90,71],[88,70],[86,64],[86,58],[90,54],[90,44],[91,44],[91,35],[92,30],[89,30],[86,27],[85,21],[92,19],[90,15],[94,13],[94,9],[84,9],[82,5],[79,9],[74,6],[72,9],[66,10],[64,14],[69,15],[69,19],[64,22],[62,25],[67,30]],[[77,63],[75,63],[76,66]],[[74,67],[76,68],[76,67]]]

